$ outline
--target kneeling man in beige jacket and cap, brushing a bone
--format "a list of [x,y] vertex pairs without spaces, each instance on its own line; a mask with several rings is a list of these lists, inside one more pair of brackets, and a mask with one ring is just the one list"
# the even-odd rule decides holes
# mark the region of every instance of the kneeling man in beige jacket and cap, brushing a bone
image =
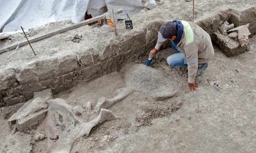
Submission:
[[167,58],[171,67],[187,67],[189,91],[198,87],[194,83],[197,76],[207,68],[208,62],[214,56],[211,38],[200,26],[187,21],[164,23],[159,32],[155,48],[149,55],[156,54],[164,41],[170,40],[176,54]]

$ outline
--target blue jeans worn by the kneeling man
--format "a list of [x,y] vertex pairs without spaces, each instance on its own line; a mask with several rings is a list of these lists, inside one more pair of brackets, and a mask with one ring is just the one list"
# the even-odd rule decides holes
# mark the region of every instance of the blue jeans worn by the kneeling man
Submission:
[[[174,45],[172,45],[174,46]],[[181,52],[178,51],[176,47],[173,48],[176,53],[173,55],[170,55],[167,57],[167,63],[169,66],[174,67],[174,68],[179,68],[179,67],[187,67],[187,64],[185,64],[185,55]],[[203,71],[208,67],[208,62],[203,63],[203,64],[198,64],[197,72],[196,72],[196,77],[201,76]]]

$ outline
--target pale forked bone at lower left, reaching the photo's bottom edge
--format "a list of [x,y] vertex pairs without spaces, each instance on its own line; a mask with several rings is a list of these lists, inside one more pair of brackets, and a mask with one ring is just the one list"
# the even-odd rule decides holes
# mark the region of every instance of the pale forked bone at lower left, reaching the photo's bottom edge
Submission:
[[58,139],[50,153],[69,153],[73,144],[82,136],[89,135],[91,129],[107,120],[120,119],[111,111],[101,109],[99,115],[85,123],[77,119],[72,112],[72,106],[64,99],[53,99],[49,102],[46,123],[50,139]]

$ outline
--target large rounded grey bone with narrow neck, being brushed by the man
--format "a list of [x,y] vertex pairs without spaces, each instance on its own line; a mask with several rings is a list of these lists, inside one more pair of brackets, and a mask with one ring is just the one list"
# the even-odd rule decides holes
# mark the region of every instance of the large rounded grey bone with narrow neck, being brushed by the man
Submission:
[[134,92],[149,94],[157,100],[171,98],[176,95],[177,83],[166,73],[145,66],[143,64],[128,65],[123,69],[125,87],[119,94],[112,98],[99,98],[95,106],[95,113],[100,113],[101,108],[109,108],[118,101]]

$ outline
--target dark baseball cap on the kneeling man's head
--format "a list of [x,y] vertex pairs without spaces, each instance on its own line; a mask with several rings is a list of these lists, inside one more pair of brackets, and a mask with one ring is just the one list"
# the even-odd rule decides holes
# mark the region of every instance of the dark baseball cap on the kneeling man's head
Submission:
[[176,24],[171,21],[165,22],[159,29],[158,39],[160,39],[161,41],[165,41],[171,38],[172,36],[175,36],[176,34]]

